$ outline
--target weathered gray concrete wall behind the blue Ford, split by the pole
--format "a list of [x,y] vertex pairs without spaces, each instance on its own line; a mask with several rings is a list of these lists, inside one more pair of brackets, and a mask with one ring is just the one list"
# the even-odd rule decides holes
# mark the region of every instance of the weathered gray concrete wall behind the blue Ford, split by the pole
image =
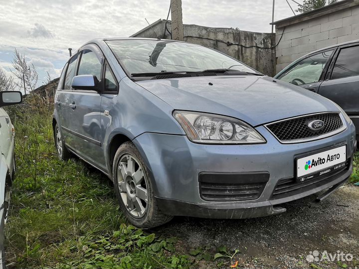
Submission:
[[[171,31],[171,21],[167,23]],[[212,28],[184,24],[184,41],[214,48],[253,67],[261,73],[275,75],[274,34],[236,30],[233,28]],[[132,37],[153,37],[171,39],[165,33],[165,20],[158,20],[151,27],[135,33]]]

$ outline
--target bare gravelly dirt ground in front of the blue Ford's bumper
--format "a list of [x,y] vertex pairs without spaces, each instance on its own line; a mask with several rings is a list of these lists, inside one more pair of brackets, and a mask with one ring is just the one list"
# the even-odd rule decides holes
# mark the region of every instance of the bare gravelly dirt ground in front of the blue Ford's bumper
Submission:
[[[226,246],[240,251],[232,263],[237,268],[356,268],[359,267],[359,186],[345,185],[318,203],[312,195],[284,204],[287,212],[257,219],[209,220],[176,217],[155,229],[157,234],[176,236],[191,250],[206,247],[212,255]],[[313,251],[352,254],[352,262],[308,262]],[[199,262],[200,268],[215,268],[219,260]],[[229,259],[223,268],[229,268]]]

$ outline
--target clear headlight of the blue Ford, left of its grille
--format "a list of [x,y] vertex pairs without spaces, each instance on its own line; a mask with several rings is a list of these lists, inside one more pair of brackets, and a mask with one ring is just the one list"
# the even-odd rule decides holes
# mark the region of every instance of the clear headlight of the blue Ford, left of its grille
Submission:
[[248,124],[230,117],[187,111],[173,116],[189,140],[197,143],[254,144],[266,140]]

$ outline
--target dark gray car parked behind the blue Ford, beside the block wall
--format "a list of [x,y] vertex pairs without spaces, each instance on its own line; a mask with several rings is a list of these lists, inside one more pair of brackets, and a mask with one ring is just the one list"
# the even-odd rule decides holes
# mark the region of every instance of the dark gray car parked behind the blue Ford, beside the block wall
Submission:
[[359,140],[359,40],[311,52],[284,68],[275,78],[337,103],[352,119]]

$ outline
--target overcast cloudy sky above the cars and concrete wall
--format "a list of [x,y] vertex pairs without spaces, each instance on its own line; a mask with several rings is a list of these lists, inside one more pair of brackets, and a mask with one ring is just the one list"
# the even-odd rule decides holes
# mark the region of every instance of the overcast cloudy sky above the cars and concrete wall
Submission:
[[[170,0],[0,0],[0,66],[9,71],[16,48],[37,68],[42,85],[46,71],[59,76],[67,48],[96,37],[130,36],[148,25],[145,17],[150,23],[166,18],[169,5]],[[182,13],[186,24],[270,32],[272,0],[182,0]],[[276,0],[275,20],[292,15],[286,0]]]

